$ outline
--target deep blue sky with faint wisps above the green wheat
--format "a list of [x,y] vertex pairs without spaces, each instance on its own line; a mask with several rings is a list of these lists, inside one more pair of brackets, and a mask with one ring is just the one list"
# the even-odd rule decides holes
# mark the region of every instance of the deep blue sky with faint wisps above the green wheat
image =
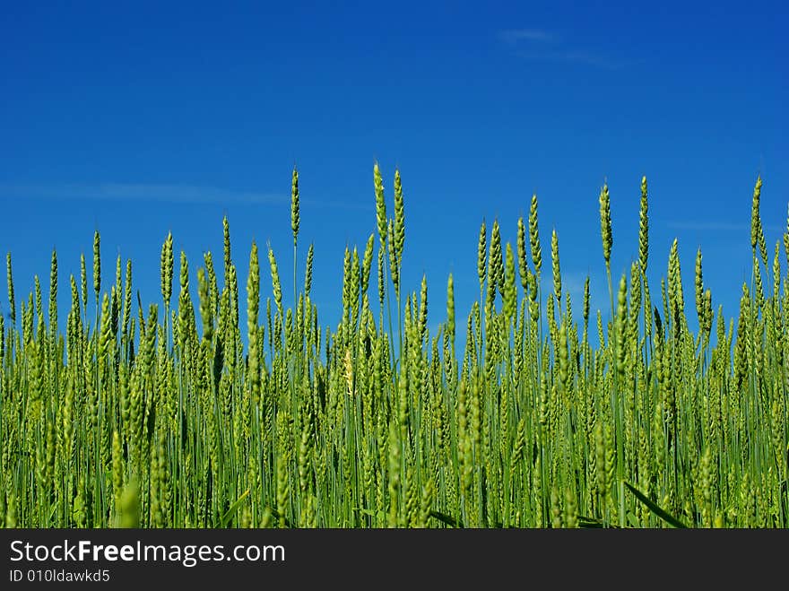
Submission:
[[450,272],[460,318],[478,295],[481,221],[515,244],[533,192],[576,309],[586,274],[605,309],[599,189],[618,277],[637,256],[645,174],[654,297],[676,237],[689,308],[701,246],[714,305],[735,314],[759,173],[770,252],[786,226],[785,5],[577,4],[4,4],[0,251],[17,305],[34,274],[47,291],[56,248],[65,309],[97,228],[104,284],[120,253],[143,302],[159,301],[167,232],[194,273],[205,250],[221,260],[225,213],[242,289],[253,239],[290,277],[296,164],[299,278],[315,242],[314,299],[334,326],[344,248],[376,227],[378,161],[390,211],[401,170],[404,289],[427,274],[431,326]]

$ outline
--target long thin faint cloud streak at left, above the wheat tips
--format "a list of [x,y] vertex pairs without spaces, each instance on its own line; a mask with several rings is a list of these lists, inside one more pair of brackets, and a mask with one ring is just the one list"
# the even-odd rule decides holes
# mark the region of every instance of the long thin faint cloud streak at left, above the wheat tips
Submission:
[[[288,204],[290,195],[256,191],[234,191],[221,187],[188,184],[146,183],[0,183],[4,199],[45,201],[141,201],[169,204]],[[351,201],[302,199],[302,204],[333,209],[372,209],[372,205]]]

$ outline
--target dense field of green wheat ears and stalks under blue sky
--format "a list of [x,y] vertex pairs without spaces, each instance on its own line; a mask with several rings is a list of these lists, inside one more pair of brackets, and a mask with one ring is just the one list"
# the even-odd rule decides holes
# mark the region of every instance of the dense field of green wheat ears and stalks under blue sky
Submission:
[[[46,309],[38,276],[15,302],[9,253],[0,523],[789,526],[789,280],[778,244],[768,258],[760,179],[736,318],[715,309],[700,250],[687,306],[676,241],[666,279],[646,281],[646,178],[636,262],[622,274],[601,189],[611,309],[596,314],[588,280],[578,302],[562,285],[555,231],[543,265],[536,196],[507,228],[515,246],[499,222],[482,224],[471,310],[455,309],[451,275],[446,301],[428,302],[426,278],[407,291],[400,175],[392,217],[377,166],[373,181],[376,231],[345,252],[333,330],[310,299],[313,248],[285,308],[289,273],[256,244],[237,266],[227,219],[217,263],[187,261],[164,239],[161,292],[147,304],[133,298],[131,261],[100,261],[99,232],[93,291],[83,257],[58,294],[53,252]],[[290,213],[304,256],[295,170]],[[789,258],[789,233],[783,248]],[[56,302],[68,297],[62,333]]]

